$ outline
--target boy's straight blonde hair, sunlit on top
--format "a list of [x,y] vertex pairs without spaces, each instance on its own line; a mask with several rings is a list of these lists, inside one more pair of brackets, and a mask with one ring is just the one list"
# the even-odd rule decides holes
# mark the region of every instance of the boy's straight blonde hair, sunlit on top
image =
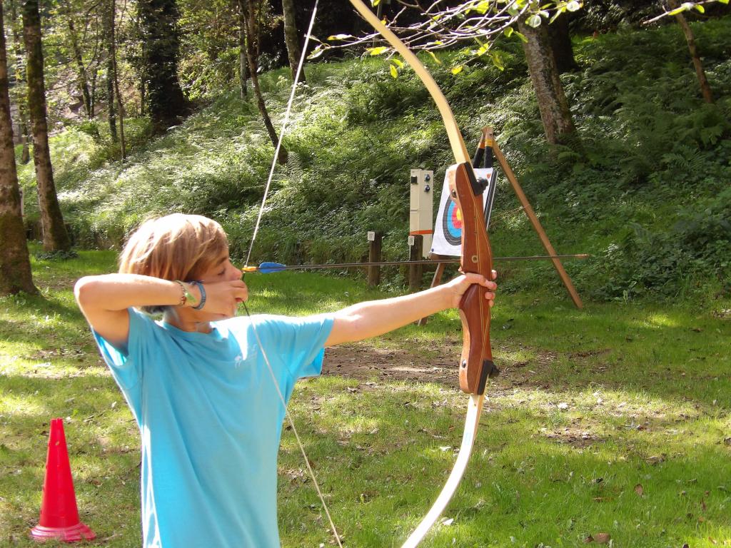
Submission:
[[[216,221],[173,213],[145,221],[132,233],[119,256],[119,272],[194,281],[227,248],[226,233]],[[145,306],[143,310],[156,313],[165,308]]]

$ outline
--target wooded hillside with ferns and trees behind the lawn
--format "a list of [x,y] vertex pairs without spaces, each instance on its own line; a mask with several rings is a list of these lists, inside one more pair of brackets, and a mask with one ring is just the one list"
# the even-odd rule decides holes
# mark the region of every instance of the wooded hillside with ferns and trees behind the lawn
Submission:
[[[291,83],[289,71],[277,68],[288,59],[282,6],[247,6],[41,6],[53,142],[53,168],[45,172],[64,212],[63,221],[60,211],[47,213],[61,228],[44,231],[27,145],[33,122],[23,85],[23,18],[9,3],[9,84],[15,136],[23,142],[24,221],[32,237],[45,236],[45,251],[66,251],[72,243],[118,248],[146,216],[184,210],[219,220],[233,254],[244,254]],[[385,9],[384,15],[395,11]],[[534,73],[550,71],[535,56],[526,61],[529,48],[518,31],[499,34],[488,55],[469,43],[437,52],[444,61],[427,61],[468,142],[476,145],[482,126],[496,129],[558,250],[591,254],[569,265],[591,299],[713,300],[729,292],[727,6],[713,3],[702,14],[693,9],[642,24],[662,12],[653,2],[596,2],[540,26],[550,32],[530,36],[531,42],[555,60],[555,74],[546,78],[561,74],[558,92],[566,99],[531,90],[539,84],[528,65],[538,67]],[[311,6],[298,3],[294,13],[295,44],[301,44]],[[683,14],[702,19],[695,23],[694,47],[710,95],[675,20]],[[327,37],[357,35],[363,27],[351,9],[324,1],[314,35],[332,43]],[[240,47],[247,28],[255,37],[248,52]],[[520,28],[530,30],[525,23]],[[450,153],[413,73],[399,68],[398,77],[384,77],[398,65],[369,56],[372,49],[368,62],[346,61],[362,51],[363,45],[330,49],[306,65],[257,259],[360,261],[368,253],[368,231],[384,235],[385,259],[408,256],[406,175],[422,167],[441,180]],[[253,89],[252,63],[254,75],[262,75]],[[537,240],[506,183],[503,178],[492,239],[501,254],[533,254]],[[64,227],[68,237],[56,236]],[[507,269],[503,289],[548,284],[560,291],[544,266]],[[398,286],[398,269],[392,272],[387,280]]]

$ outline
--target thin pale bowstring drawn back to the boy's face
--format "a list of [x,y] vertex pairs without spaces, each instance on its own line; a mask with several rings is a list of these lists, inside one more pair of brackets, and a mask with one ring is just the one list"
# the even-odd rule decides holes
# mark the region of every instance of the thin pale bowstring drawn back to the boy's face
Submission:
[[[269,170],[269,177],[267,179],[267,184],[264,189],[264,196],[262,197],[262,203],[259,208],[259,214],[257,215],[257,223],[254,225],[254,233],[251,235],[251,243],[249,244],[249,251],[246,254],[246,263],[245,266],[249,266],[249,260],[251,259],[251,250],[254,249],[254,241],[257,239],[257,235],[259,234],[259,227],[262,221],[262,216],[264,214],[264,207],[267,202],[267,198],[269,196],[269,190],[271,188],[271,183],[274,178],[274,170],[276,170],[276,163],[279,159],[279,151],[281,150],[281,142],[284,138],[284,132],[287,130],[287,124],[289,123],[289,115],[292,113],[292,104],[295,100],[295,94],[297,92],[297,84],[300,80],[300,74],[302,73],[302,67],[305,64],[305,56],[307,53],[307,46],[310,41],[310,37],[312,36],[312,27],[314,26],[315,17],[317,15],[317,4],[319,0],[315,0],[314,8],[312,9],[312,17],[310,19],[310,24],[307,28],[307,34],[305,35],[305,43],[302,47],[302,54],[300,55],[300,61],[297,66],[297,71],[295,72],[295,80],[292,83],[292,91],[289,94],[289,101],[287,102],[287,109],[284,111],[284,121],[282,121],[281,129],[279,130],[279,139],[276,143],[276,148],[274,149],[274,158],[272,160],[272,165]],[[243,273],[241,278],[246,276],[246,273]],[[287,422],[289,423],[289,427],[292,429],[292,433],[295,435],[295,440],[297,440],[297,445],[300,448],[300,452],[302,453],[302,457],[305,460],[305,465],[307,468],[307,471],[309,473],[310,478],[312,479],[312,483],[314,484],[315,490],[317,491],[317,496],[319,497],[320,503],[322,504],[322,509],[325,511],[325,515],[327,516],[327,521],[330,523],[330,530],[333,531],[333,536],[335,536],[335,539],[338,543],[338,547],[343,548],[343,544],[340,540],[340,535],[338,535],[338,530],[335,526],[335,522],[333,522],[333,518],[330,516],[330,509],[327,507],[327,503],[325,502],[325,495],[322,495],[322,490],[320,489],[319,482],[317,482],[317,477],[315,476],[314,471],[312,470],[312,466],[310,465],[310,460],[307,457],[307,453],[305,451],[305,446],[302,443],[302,440],[300,439],[300,435],[297,431],[297,427],[295,427],[295,422],[292,420],[292,415],[289,414],[289,411],[287,410],[287,400],[284,398],[284,394],[281,392],[281,387],[279,386],[279,382],[276,380],[276,375],[274,374],[274,369],[272,368],[272,365],[269,361],[269,357],[267,356],[266,351],[264,350],[264,346],[262,346],[262,340],[259,337],[259,333],[257,332],[257,327],[254,321],[251,321],[251,313],[249,312],[249,307],[246,306],[246,302],[243,302],[243,309],[246,311],[246,316],[249,317],[250,325],[251,325],[251,331],[254,333],[254,338],[257,340],[257,345],[259,346],[259,349],[262,353],[262,357],[264,358],[264,362],[267,365],[267,369],[269,370],[269,374],[271,376],[271,379],[274,383],[274,387],[276,388],[277,395],[279,396],[279,400],[281,401],[282,407],[284,408],[284,416],[287,418]]]

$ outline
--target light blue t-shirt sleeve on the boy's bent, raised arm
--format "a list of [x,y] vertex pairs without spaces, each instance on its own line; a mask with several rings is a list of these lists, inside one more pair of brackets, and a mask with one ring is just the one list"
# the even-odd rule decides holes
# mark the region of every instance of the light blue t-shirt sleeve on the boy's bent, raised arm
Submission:
[[132,391],[142,378],[142,356],[144,340],[151,336],[155,327],[153,319],[145,313],[129,308],[129,338],[126,349],[117,349],[102,335],[93,329],[96,345],[102,358],[112,371],[119,387],[127,394]]

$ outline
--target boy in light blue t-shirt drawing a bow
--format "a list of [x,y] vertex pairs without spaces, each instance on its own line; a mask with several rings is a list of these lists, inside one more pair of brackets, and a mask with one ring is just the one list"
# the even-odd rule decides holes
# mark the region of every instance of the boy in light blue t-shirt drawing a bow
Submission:
[[[492,305],[496,284],[468,275],[335,313],[235,317],[249,292],[221,226],[179,213],[145,222],[118,274],[75,286],[140,427],[143,546],[279,547],[284,408],[271,374],[289,400],[298,378],[319,375],[325,346],[456,307],[472,283],[490,290]],[[147,314],[159,312],[162,321]]]

